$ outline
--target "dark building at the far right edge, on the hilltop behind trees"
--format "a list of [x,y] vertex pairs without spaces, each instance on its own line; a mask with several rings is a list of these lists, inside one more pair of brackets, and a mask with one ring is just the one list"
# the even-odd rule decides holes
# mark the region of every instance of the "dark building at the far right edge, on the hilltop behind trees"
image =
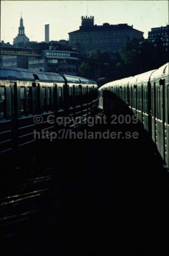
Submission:
[[154,46],[161,41],[165,50],[168,51],[169,25],[166,25],[165,27],[161,26],[158,28],[151,28],[151,31],[148,33],[148,41],[154,43]]

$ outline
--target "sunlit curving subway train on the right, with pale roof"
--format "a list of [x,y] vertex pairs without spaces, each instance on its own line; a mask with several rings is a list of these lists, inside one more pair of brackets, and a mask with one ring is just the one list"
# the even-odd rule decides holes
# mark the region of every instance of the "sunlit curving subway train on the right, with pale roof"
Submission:
[[99,111],[113,113],[114,97],[120,98],[138,116],[169,167],[168,63],[162,67],[112,81],[99,88]]

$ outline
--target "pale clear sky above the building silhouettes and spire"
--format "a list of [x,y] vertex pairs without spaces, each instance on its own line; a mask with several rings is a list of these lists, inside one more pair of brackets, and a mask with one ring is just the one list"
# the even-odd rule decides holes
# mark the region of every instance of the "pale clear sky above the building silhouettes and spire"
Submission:
[[7,1],[1,0],[1,41],[13,44],[22,12],[30,41],[44,41],[44,25],[50,24],[50,41],[68,39],[79,29],[81,17],[94,16],[94,24],[128,23],[144,32],[168,24],[168,1]]

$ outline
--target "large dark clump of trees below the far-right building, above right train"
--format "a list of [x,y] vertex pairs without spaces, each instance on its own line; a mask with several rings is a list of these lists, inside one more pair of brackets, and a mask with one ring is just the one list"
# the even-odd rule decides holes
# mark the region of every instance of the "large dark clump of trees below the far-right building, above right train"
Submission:
[[120,47],[119,54],[120,61],[116,67],[127,76],[156,69],[168,61],[168,55],[160,39],[156,42],[156,46],[149,41],[140,44],[128,41]]

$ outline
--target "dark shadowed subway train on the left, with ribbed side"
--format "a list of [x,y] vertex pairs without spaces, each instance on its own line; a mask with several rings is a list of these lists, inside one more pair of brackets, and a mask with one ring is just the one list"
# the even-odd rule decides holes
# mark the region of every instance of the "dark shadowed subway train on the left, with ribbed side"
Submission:
[[81,117],[77,128],[98,109],[98,86],[90,79],[19,68],[0,71],[0,157],[26,147],[33,150],[45,131],[49,135],[74,128],[71,122],[65,127],[63,117]]

